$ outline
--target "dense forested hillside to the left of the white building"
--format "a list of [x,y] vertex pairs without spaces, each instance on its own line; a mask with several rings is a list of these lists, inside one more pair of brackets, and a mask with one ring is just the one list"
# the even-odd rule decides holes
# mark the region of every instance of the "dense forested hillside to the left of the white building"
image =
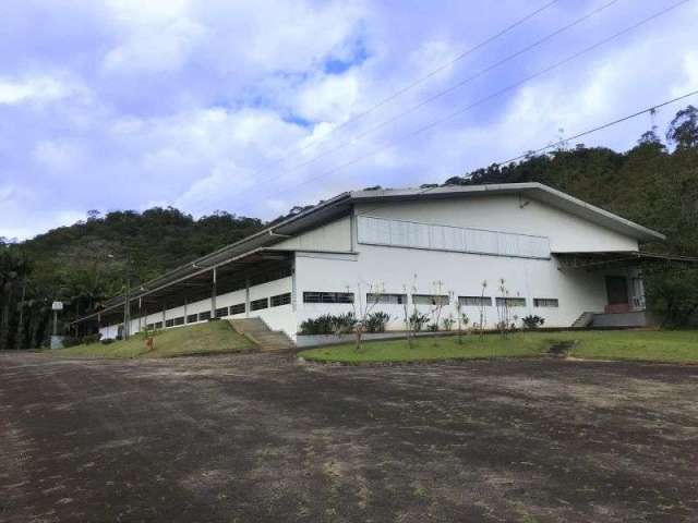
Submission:
[[0,239],[0,350],[46,343],[53,300],[65,303],[64,318],[84,315],[122,290],[128,267],[133,282],[147,281],[262,227],[228,212],[195,220],[156,207],[89,211],[85,221],[20,244]]

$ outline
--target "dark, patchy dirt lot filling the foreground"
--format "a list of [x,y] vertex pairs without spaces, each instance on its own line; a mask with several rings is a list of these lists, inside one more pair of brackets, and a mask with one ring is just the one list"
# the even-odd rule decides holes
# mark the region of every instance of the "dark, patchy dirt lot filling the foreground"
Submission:
[[698,521],[698,368],[0,355],[0,521]]

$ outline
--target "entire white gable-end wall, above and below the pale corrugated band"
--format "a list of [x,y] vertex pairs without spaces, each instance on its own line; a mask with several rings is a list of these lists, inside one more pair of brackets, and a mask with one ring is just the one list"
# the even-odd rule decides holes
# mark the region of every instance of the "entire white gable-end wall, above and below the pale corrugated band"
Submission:
[[[637,240],[607,230],[595,223],[568,215],[546,204],[530,199],[520,200],[512,195],[488,195],[459,199],[431,202],[396,202],[357,206],[359,216],[373,216],[430,224],[459,228],[479,228],[508,233],[545,236],[553,252],[637,251]],[[356,232],[354,232],[356,234]],[[358,239],[357,239],[358,240]],[[484,307],[485,323],[494,326],[497,318],[495,297],[500,279],[510,296],[526,299],[526,307],[513,307],[519,318],[529,314],[545,318],[550,327],[568,327],[583,312],[603,312],[606,304],[604,275],[563,269],[557,260],[479,255],[457,252],[431,251],[399,246],[368,245],[358,243],[356,256],[309,255],[297,253],[296,277],[298,295],[298,321],[322,314],[341,314],[353,311],[348,304],[304,304],[303,292],[358,293],[361,283],[362,303],[371,284],[380,285],[385,293],[436,292],[435,282],[443,282],[442,293],[454,293],[454,300],[442,311],[442,318],[456,316],[457,296],[480,295],[482,282],[488,282],[485,295],[493,297],[493,305]],[[558,307],[535,307],[533,299],[556,299]],[[411,300],[410,300],[411,308]],[[432,307],[419,307],[428,313]],[[373,311],[384,311],[392,316],[389,328],[404,328],[402,305],[380,304]],[[464,306],[472,321],[479,320],[480,308]]]

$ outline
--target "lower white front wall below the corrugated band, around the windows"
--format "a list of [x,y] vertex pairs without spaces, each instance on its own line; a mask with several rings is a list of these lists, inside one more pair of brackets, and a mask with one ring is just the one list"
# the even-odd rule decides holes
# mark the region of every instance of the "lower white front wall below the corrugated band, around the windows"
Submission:
[[[458,295],[472,296],[482,292],[482,281],[488,281],[485,295],[493,297],[493,305],[485,307],[485,323],[490,327],[497,323],[494,297],[498,280],[505,279],[510,296],[525,297],[526,307],[514,307],[512,314],[519,318],[535,314],[545,318],[549,327],[568,327],[582,312],[603,312],[606,303],[605,284],[602,275],[558,270],[553,259],[524,259],[504,256],[485,256],[466,253],[446,253],[401,247],[359,245],[359,255],[353,260],[333,257],[306,257],[298,255],[296,260],[298,290],[298,321],[314,318],[322,314],[341,314],[353,311],[348,304],[306,304],[302,303],[303,292],[347,292],[349,287],[354,294],[361,283],[361,301],[365,303],[365,293],[370,284],[383,288],[385,293],[412,293],[412,284],[418,294],[436,292],[434,282],[443,282],[442,293],[454,292],[450,305],[445,306],[442,318],[449,313],[456,316]],[[414,278],[417,275],[417,278]],[[534,297],[557,299],[558,308],[534,307]],[[410,300],[410,311],[411,311]],[[419,306],[423,313],[430,306]],[[389,328],[404,328],[401,305],[380,304],[374,312],[383,311],[392,316]],[[479,307],[462,307],[471,321],[479,321]]]

